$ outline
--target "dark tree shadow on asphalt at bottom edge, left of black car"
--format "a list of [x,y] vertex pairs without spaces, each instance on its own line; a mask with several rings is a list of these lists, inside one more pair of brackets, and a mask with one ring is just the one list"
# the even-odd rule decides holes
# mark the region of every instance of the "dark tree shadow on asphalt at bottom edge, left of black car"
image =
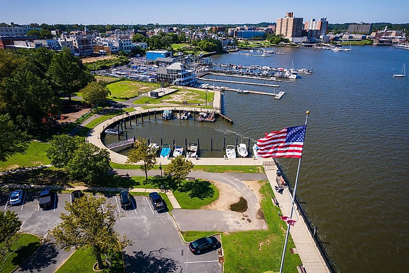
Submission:
[[133,256],[124,253],[125,267],[127,272],[138,273],[168,273],[176,272],[178,262],[167,257],[169,250],[161,248],[145,254],[143,251],[134,251]]

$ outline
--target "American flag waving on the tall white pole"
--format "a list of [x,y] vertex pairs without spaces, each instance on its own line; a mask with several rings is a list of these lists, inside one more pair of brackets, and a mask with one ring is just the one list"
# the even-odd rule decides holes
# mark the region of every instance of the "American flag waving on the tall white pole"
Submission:
[[273,131],[257,141],[258,155],[262,158],[301,158],[306,125]]

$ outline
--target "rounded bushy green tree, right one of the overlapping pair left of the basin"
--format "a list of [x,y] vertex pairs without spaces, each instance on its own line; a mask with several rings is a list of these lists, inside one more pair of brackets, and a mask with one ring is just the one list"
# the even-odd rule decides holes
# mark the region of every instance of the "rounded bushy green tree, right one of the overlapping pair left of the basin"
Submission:
[[91,143],[81,143],[65,165],[71,179],[96,183],[111,169],[109,152]]

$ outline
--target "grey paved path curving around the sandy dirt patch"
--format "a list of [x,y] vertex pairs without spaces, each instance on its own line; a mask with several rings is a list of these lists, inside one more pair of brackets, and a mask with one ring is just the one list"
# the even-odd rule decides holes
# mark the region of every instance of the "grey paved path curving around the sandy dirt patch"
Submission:
[[[140,170],[117,169],[115,171],[117,171],[120,175],[126,173],[128,173],[130,176],[145,175],[145,173]],[[150,175],[156,174],[159,174],[159,171],[150,172]],[[237,174],[235,174],[234,176],[236,175]],[[173,209],[173,217],[181,230],[239,231],[267,229],[265,220],[258,214],[260,204],[257,195],[253,193],[241,180],[234,178],[229,174],[195,171],[191,172],[189,176],[200,179],[217,180],[219,182],[226,183],[227,185],[232,186],[242,194],[244,199],[246,199],[248,209],[244,213],[217,209]],[[250,177],[252,177],[252,180],[266,178],[265,174],[251,174],[251,176],[249,176],[248,178]],[[245,217],[244,220],[242,220],[243,216]]]

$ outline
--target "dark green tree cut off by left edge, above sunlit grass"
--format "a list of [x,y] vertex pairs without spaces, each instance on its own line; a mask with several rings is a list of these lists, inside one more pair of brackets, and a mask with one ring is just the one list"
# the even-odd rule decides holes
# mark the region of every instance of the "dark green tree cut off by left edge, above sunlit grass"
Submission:
[[0,115],[0,130],[0,161],[28,149],[29,135],[18,130],[8,115]]

